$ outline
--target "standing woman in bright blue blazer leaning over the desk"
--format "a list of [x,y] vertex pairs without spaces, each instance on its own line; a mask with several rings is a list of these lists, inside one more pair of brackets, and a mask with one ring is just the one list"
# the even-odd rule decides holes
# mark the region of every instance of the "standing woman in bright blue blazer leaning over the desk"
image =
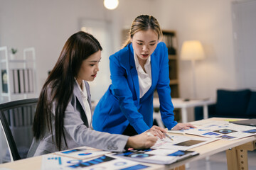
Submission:
[[129,39],[122,50],[110,56],[112,84],[95,108],[95,130],[135,135],[146,130],[164,137],[163,128],[153,126],[153,97],[157,90],[161,118],[169,130],[194,128],[174,121],[174,106],[169,86],[167,47],[158,21],[153,16],[135,18]]

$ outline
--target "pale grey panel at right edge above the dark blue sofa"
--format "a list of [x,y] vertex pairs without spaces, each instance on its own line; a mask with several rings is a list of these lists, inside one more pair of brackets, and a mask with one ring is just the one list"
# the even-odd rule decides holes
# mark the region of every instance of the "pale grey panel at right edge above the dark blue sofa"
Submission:
[[256,1],[235,1],[233,7],[234,49],[238,88],[256,90]]

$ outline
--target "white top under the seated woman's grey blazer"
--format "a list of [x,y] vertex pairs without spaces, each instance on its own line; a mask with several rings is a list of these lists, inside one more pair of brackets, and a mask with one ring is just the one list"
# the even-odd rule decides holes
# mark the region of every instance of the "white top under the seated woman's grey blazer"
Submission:
[[[76,81],[76,82],[78,84],[78,81]],[[92,114],[91,114],[91,109],[90,109],[90,105],[88,102],[88,95],[87,95],[87,91],[86,91],[86,87],[85,87],[85,81],[82,81],[82,89],[79,84],[78,84],[78,86],[79,86],[80,94],[82,97],[82,103],[85,106],[85,114],[86,114],[88,125],[89,125],[88,128],[90,128],[91,122],[92,122]]]

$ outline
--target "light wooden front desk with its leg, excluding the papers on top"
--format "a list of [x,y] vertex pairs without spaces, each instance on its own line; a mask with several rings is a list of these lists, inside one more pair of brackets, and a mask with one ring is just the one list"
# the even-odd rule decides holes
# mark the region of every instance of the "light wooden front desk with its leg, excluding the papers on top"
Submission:
[[[230,119],[230,118],[229,118]],[[224,118],[210,118],[210,120],[224,120]],[[201,120],[203,121],[203,120]],[[196,123],[196,122],[192,122]],[[196,137],[196,136],[193,136]],[[184,159],[181,162],[176,162],[170,165],[152,165],[151,169],[174,169],[177,166],[187,164],[209,157],[212,154],[226,151],[228,170],[248,169],[247,163],[247,150],[254,150],[256,148],[256,135],[252,137],[245,137],[240,140],[218,140],[200,147],[195,147],[193,150],[199,153],[198,156]],[[16,162],[0,164],[1,168],[14,169],[14,170],[36,170],[41,168],[41,157],[33,157],[22,159]]]

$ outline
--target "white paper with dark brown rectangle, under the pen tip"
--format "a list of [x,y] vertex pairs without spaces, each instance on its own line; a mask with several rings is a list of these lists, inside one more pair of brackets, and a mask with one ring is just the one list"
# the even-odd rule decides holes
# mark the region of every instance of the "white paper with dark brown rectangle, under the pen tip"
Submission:
[[193,147],[198,147],[201,145],[205,145],[209,142],[213,142],[218,139],[210,139],[207,137],[188,137],[181,135],[170,135],[173,139],[169,140],[168,138],[164,138],[162,140],[157,140],[156,144],[151,147],[153,149],[176,149],[176,150],[188,150]]

